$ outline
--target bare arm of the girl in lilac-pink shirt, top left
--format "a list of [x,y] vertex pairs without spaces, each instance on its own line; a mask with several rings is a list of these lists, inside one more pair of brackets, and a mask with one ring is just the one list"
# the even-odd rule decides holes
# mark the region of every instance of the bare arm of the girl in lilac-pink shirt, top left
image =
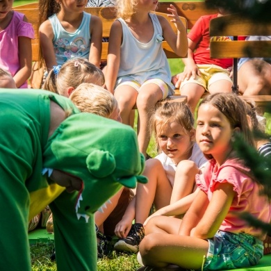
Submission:
[[19,71],[13,76],[17,88],[19,88],[31,75],[32,48],[31,39],[18,37],[19,45]]

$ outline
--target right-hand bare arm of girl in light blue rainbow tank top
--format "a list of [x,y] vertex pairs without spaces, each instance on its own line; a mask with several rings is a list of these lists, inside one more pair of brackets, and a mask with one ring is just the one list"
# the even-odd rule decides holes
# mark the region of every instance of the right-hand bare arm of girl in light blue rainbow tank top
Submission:
[[101,38],[102,38],[103,26],[101,19],[92,15],[90,21],[90,63],[96,67],[100,67],[101,64]]

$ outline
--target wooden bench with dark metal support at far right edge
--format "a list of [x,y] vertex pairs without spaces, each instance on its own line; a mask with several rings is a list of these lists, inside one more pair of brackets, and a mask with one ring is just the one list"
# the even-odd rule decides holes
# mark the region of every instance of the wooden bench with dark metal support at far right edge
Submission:
[[[238,14],[211,20],[210,36],[233,36],[233,41],[211,40],[211,58],[233,58],[233,92],[238,94],[238,58],[271,57],[271,41],[238,40],[238,36],[271,35],[271,24],[254,22]],[[247,75],[249,76],[249,74]],[[271,95],[240,96],[253,100],[261,113],[271,104]]]

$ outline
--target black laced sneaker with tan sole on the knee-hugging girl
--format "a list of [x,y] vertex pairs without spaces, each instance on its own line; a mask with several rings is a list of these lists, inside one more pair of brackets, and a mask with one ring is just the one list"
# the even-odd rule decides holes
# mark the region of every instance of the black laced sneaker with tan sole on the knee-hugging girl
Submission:
[[138,246],[144,236],[145,233],[143,225],[140,223],[135,223],[132,225],[126,238],[117,240],[114,249],[121,252],[138,252]]

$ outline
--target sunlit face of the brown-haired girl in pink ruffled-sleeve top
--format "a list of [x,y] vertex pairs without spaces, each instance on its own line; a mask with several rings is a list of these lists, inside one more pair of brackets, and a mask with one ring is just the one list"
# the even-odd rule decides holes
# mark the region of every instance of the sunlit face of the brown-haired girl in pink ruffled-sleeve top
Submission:
[[211,104],[199,106],[196,140],[204,154],[211,154],[217,163],[224,162],[231,151],[233,129],[227,117]]

